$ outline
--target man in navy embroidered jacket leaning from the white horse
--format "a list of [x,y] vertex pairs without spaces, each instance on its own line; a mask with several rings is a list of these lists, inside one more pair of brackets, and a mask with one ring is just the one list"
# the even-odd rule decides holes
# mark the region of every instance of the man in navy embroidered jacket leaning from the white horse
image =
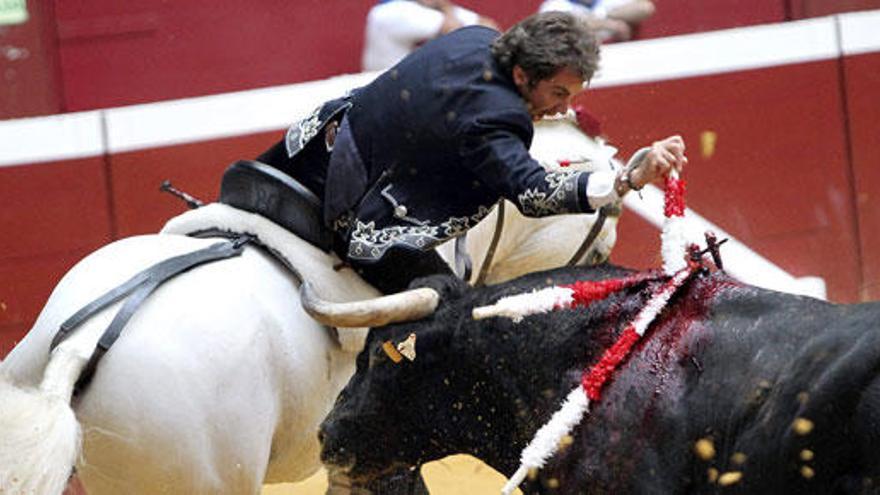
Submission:
[[591,29],[560,12],[504,34],[465,27],[293,125],[259,159],[317,195],[332,248],[390,293],[448,272],[433,251],[500,199],[528,216],[593,212],[686,162],[679,137],[623,173],[547,172],[533,121],[566,112],[599,62]]

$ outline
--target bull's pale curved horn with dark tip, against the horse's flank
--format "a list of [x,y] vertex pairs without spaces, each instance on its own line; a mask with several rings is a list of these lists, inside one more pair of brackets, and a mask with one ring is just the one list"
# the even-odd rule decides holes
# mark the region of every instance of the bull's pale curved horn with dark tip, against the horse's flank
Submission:
[[337,303],[321,299],[311,284],[303,282],[299,294],[306,313],[331,327],[378,327],[418,320],[432,314],[440,302],[440,294],[427,287],[366,301]]

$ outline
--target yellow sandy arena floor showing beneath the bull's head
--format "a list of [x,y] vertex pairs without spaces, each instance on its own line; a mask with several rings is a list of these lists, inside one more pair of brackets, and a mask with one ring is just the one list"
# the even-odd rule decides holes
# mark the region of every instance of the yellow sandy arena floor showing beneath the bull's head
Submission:
[[[422,468],[422,474],[431,495],[497,495],[505,482],[497,471],[466,455],[430,462]],[[322,470],[301,483],[267,485],[262,495],[324,495],[326,489],[327,475]]]

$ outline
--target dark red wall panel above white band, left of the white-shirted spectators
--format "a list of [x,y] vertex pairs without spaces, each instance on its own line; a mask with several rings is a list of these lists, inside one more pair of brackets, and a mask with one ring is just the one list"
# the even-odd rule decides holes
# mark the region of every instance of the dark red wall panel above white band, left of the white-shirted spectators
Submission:
[[369,2],[57,2],[66,109],[359,71]]

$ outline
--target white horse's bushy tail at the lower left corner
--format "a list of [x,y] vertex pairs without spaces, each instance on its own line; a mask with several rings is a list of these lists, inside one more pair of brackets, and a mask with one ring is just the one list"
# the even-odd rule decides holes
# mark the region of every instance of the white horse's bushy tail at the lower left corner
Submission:
[[81,448],[70,397],[85,362],[62,346],[38,389],[17,387],[0,373],[0,493],[64,491]]

